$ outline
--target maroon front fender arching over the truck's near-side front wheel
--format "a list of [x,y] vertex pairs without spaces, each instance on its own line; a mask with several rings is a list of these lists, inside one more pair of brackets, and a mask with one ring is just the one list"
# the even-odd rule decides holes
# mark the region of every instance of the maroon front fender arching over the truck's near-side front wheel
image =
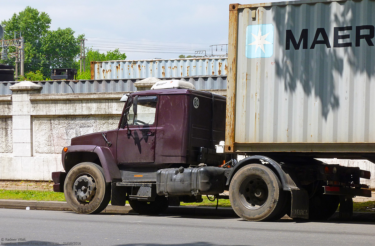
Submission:
[[[100,163],[97,163],[99,159]],[[68,151],[62,151],[62,164],[65,171],[69,170],[81,162],[94,162],[102,166],[105,180],[121,181],[120,170],[107,147],[97,145],[72,145],[68,146]]]

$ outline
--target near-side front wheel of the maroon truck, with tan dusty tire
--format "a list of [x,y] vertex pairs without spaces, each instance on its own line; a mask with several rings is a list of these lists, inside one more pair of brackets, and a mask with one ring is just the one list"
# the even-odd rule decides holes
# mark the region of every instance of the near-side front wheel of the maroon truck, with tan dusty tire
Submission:
[[66,175],[64,196],[69,207],[77,213],[99,213],[110,202],[111,183],[105,180],[101,166],[83,162]]

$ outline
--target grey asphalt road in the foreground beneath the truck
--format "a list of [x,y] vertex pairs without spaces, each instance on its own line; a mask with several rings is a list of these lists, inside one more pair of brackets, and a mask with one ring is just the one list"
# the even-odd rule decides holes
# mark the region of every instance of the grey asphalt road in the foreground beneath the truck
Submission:
[[0,209],[0,223],[2,245],[369,246],[375,243],[375,223],[364,222],[296,222],[290,219],[248,222],[222,217],[79,215]]

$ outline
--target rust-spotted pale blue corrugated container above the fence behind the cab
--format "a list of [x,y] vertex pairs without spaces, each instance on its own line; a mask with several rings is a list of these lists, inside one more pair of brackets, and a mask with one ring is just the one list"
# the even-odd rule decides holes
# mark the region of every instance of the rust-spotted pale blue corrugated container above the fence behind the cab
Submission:
[[226,58],[189,58],[92,62],[92,79],[178,78],[217,76],[227,72]]

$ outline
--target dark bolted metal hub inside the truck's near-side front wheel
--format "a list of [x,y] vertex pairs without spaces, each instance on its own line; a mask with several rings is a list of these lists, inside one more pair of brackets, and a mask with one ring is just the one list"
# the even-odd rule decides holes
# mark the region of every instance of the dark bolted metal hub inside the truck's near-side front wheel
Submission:
[[95,180],[87,175],[80,176],[74,182],[73,192],[79,202],[90,202],[96,193]]

